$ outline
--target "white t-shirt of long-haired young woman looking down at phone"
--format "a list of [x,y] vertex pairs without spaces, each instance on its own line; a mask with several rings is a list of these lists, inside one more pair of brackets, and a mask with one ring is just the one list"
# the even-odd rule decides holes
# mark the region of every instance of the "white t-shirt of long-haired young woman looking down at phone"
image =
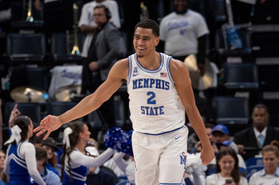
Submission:
[[[231,179],[232,177],[222,177],[220,173],[214,173],[205,178],[206,185],[223,185],[226,183],[226,179]],[[240,176],[239,185],[248,185],[247,179]]]

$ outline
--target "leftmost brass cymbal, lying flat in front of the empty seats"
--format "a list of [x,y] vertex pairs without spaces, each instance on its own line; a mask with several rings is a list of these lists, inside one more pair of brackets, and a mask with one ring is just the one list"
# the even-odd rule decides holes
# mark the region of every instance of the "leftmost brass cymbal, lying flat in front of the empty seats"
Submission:
[[45,102],[49,95],[46,91],[31,86],[21,86],[12,89],[10,96],[16,102]]

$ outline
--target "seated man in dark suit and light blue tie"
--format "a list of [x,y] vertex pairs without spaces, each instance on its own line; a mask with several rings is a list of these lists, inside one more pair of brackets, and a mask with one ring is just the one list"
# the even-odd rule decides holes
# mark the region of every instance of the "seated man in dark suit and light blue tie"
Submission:
[[[253,107],[252,120],[253,127],[236,133],[234,137],[234,142],[244,160],[255,157],[262,147],[270,144],[271,141],[279,141],[279,131],[267,126],[269,113],[266,105],[257,104]],[[245,147],[253,147],[255,150],[245,151]]]

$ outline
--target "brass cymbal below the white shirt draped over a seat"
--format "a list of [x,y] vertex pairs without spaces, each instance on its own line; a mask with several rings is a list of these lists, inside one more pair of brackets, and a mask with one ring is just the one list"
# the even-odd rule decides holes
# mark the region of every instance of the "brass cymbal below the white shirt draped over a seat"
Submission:
[[69,85],[56,90],[55,98],[58,101],[69,102],[73,94],[81,94],[81,85]]

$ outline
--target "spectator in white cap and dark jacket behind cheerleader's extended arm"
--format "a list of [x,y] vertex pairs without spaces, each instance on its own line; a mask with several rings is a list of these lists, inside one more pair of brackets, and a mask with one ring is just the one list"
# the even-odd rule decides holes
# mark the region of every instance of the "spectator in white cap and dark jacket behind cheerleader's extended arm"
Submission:
[[[99,151],[94,146],[87,146],[85,150],[90,154],[91,157],[99,156]],[[86,179],[87,185],[115,185],[115,177],[108,171],[99,166],[90,166],[89,174]]]

